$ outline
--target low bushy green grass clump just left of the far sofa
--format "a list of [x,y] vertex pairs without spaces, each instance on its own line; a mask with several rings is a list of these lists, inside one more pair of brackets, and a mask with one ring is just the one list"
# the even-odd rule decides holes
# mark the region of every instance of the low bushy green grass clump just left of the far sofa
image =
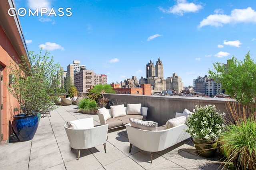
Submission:
[[84,114],[97,114],[99,108],[94,100],[88,98],[83,98],[78,103],[78,111]]

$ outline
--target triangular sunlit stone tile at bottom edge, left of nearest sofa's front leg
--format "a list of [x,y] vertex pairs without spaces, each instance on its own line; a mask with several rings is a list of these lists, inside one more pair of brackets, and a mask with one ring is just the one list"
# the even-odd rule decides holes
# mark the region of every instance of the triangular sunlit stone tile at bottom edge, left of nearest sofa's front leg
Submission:
[[144,168],[142,168],[139,164],[134,162],[134,160],[129,157],[122,158],[104,166],[106,170],[114,170],[117,169],[117,167],[118,170],[144,170]]

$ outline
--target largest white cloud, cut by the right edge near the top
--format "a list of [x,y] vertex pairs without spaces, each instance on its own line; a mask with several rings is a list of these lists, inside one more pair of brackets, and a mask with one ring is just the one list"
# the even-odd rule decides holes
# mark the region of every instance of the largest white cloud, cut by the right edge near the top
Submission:
[[228,23],[256,23],[256,11],[248,7],[246,9],[234,9],[231,11],[230,16],[226,14],[212,14],[204,18],[198,27],[201,28],[206,25],[222,27],[223,24]]

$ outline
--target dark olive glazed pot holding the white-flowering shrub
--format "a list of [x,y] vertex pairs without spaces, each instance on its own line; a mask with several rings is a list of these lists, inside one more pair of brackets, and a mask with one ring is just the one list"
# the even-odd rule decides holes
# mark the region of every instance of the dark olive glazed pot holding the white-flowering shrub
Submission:
[[205,141],[202,139],[193,139],[196,152],[200,156],[212,157],[217,151],[217,142],[216,141]]

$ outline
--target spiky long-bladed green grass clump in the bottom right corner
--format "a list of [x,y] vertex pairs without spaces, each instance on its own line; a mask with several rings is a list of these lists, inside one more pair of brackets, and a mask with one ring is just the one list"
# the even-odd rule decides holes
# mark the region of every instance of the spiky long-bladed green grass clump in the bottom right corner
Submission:
[[256,169],[256,121],[250,118],[240,121],[238,125],[227,125],[219,139],[221,149],[226,152],[225,166],[237,162],[245,170]]

